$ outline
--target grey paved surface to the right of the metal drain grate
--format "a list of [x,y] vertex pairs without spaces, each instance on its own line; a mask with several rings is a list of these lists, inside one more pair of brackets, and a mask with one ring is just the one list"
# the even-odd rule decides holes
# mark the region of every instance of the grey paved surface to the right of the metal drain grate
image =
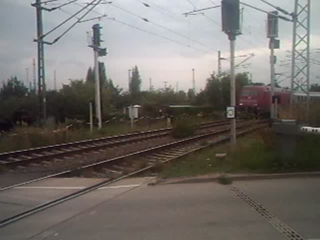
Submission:
[[305,239],[320,239],[320,178],[238,181],[234,185]]

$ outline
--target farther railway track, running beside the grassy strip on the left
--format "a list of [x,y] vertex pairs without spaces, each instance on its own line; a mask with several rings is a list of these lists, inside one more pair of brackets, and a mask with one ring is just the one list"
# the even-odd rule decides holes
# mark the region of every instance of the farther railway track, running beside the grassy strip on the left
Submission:
[[[228,121],[214,121],[198,124],[197,130],[222,126]],[[64,157],[88,153],[99,149],[113,148],[124,144],[136,143],[138,141],[152,140],[170,134],[172,128],[162,128],[143,132],[134,132],[116,136],[109,136],[97,139],[83,140],[77,142],[63,143],[40,148],[24,149],[0,154],[0,164],[12,168],[38,164],[48,161],[63,161]]]

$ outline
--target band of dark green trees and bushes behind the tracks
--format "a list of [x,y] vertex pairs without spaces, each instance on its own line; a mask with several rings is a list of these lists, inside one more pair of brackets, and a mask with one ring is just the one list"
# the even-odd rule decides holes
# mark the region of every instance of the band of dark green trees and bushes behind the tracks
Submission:
[[[89,68],[87,76],[83,79],[70,80],[69,84],[63,84],[58,90],[48,90],[46,93],[47,116],[52,117],[55,124],[65,123],[67,119],[75,119],[83,122],[89,121],[89,101],[94,106],[95,78],[94,69]],[[159,105],[198,105],[211,108],[181,109],[182,113],[197,114],[198,112],[221,110],[229,104],[229,76],[224,76],[219,81],[214,74],[207,79],[204,90],[195,93],[192,89],[187,92],[175,92],[170,86],[161,89],[149,89],[141,91],[142,79],[137,66],[132,68],[130,91],[115,86],[113,81],[106,76],[104,63],[99,63],[101,108],[103,121],[114,114],[122,113],[123,107],[130,104],[140,104],[145,110],[145,115],[159,116]],[[247,73],[237,75],[237,92],[243,85],[249,84]],[[39,96],[33,87],[28,89],[17,77],[11,77],[3,81],[0,89],[0,123],[8,123],[6,129],[12,124],[42,125],[42,105]],[[95,110],[95,108],[93,108]],[[188,112],[189,111],[189,112]],[[168,113],[171,115],[171,113]],[[176,114],[179,114],[176,113]]]

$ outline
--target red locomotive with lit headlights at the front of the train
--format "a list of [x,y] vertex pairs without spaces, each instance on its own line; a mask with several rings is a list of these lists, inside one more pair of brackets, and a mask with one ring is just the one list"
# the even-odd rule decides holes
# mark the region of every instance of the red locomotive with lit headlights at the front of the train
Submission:
[[[266,86],[264,84],[244,86],[238,101],[238,110],[252,112],[254,114],[268,115],[270,113],[270,95],[270,86]],[[278,96],[279,105],[289,105],[289,90],[275,88],[275,95]]]

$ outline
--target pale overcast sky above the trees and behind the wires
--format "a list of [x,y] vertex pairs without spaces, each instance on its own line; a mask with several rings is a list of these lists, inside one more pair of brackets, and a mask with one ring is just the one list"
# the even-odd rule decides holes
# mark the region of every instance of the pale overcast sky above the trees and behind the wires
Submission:
[[[65,3],[68,0],[59,0],[54,3]],[[84,4],[89,0],[78,0]],[[279,5],[288,12],[293,11],[294,0],[268,0]],[[300,0],[305,1],[305,0]],[[29,80],[32,74],[32,59],[36,58],[36,10],[30,5],[30,0],[1,0],[0,8],[0,73],[1,79],[18,76],[26,81],[26,68],[29,69]],[[148,3],[145,7],[141,2]],[[53,88],[53,71],[57,72],[57,86],[69,82],[68,79],[85,78],[89,66],[93,65],[92,49],[87,47],[87,33],[95,23],[103,27],[103,46],[107,47],[108,55],[101,57],[107,68],[108,77],[114,84],[127,90],[128,69],[137,65],[142,78],[142,89],[149,87],[149,78],[155,88],[163,87],[163,82],[175,88],[179,82],[179,90],[192,87],[192,68],[195,68],[196,90],[204,88],[206,78],[213,71],[217,72],[217,51],[221,50],[222,57],[229,56],[228,37],[221,31],[221,9],[205,11],[205,15],[184,17],[183,12],[194,8],[209,7],[219,4],[218,0],[115,0],[113,4],[101,4],[95,8],[96,12],[108,14],[133,27],[138,27],[150,33],[142,32],[136,28],[120,24],[110,19],[93,20],[77,24],[68,34],[63,36],[54,45],[45,45],[45,70],[47,87]],[[242,0],[266,11],[274,9],[259,0]],[[311,12],[311,49],[312,56],[320,60],[320,1],[312,0]],[[47,5],[53,7],[54,5]],[[126,11],[130,11],[132,15]],[[76,4],[69,4],[63,10],[74,13],[80,9]],[[91,12],[86,18],[98,16]],[[141,18],[147,18],[145,22]],[[43,12],[44,32],[49,31],[69,15],[60,10]],[[74,19],[73,21],[75,21]],[[269,49],[266,38],[266,14],[244,6],[243,35],[237,38],[236,55],[254,53],[255,57],[247,63],[250,68],[239,68],[236,72],[248,71],[252,73],[254,82],[270,82]],[[49,34],[45,40],[52,41],[59,36],[72,22],[63,25],[58,31]],[[158,25],[158,26],[157,26]],[[167,29],[165,29],[167,28]],[[169,30],[168,30],[169,29]],[[184,37],[182,37],[184,36]],[[167,39],[164,39],[167,38]],[[169,40],[168,40],[169,39]],[[278,63],[287,59],[286,51],[292,47],[292,23],[280,20],[279,39],[281,49],[276,50]],[[178,43],[180,44],[178,44]],[[190,47],[188,47],[190,46]],[[320,51],[320,50],[318,50]],[[237,58],[236,63],[244,58]],[[230,62],[222,61],[222,70],[229,69]],[[290,74],[290,68],[276,66],[276,72]],[[316,83],[320,76],[318,65],[311,65],[311,83]],[[289,80],[283,85],[289,85]]]

